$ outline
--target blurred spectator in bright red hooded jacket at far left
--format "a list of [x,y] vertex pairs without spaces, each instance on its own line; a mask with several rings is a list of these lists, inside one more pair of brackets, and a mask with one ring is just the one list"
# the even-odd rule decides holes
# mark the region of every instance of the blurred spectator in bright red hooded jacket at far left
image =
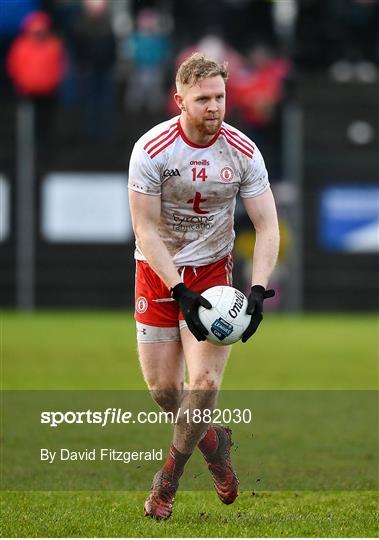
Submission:
[[54,98],[64,70],[64,47],[52,31],[50,17],[43,11],[30,13],[9,49],[7,71],[16,93],[34,101],[39,140],[49,138]]

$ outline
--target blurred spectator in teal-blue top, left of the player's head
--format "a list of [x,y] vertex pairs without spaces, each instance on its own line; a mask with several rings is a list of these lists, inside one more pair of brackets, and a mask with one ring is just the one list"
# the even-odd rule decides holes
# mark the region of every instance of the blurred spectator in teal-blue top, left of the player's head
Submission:
[[136,25],[136,31],[125,44],[126,57],[132,63],[126,107],[129,111],[140,111],[146,106],[156,113],[165,103],[164,84],[171,45],[154,9],[141,10]]

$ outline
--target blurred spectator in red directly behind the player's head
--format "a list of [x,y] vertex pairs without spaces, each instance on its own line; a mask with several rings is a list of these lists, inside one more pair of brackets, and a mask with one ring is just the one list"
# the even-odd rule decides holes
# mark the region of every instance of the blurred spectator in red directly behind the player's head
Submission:
[[[194,45],[191,45],[190,47],[187,47],[178,54],[177,58],[175,59],[176,67],[178,68],[186,58],[191,56],[191,54],[196,51],[204,54],[207,58],[215,60],[216,62],[227,62],[229,69],[228,88],[234,87],[239,73],[244,65],[244,58],[242,55],[228,45],[221,36],[216,34],[207,34],[203,36],[200,41]],[[173,98],[175,91],[175,88],[171,89],[168,102],[168,110],[172,115],[178,114],[178,109]],[[234,108],[235,103],[233,92],[228,92],[226,106],[227,111]]]

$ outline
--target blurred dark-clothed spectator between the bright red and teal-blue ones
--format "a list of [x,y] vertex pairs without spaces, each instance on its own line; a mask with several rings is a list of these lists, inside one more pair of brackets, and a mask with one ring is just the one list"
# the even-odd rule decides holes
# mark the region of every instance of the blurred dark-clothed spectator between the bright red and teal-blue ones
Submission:
[[83,7],[73,29],[73,39],[84,132],[93,142],[105,142],[113,131],[116,40],[108,0],[84,0]]

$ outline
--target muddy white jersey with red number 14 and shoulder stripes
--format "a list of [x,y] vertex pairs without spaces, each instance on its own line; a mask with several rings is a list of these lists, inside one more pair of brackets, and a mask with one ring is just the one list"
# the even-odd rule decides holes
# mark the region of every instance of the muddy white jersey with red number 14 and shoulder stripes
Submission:
[[[204,266],[234,243],[237,193],[269,188],[262,155],[243,133],[222,123],[206,146],[187,139],[179,116],[145,133],[130,159],[129,189],[161,197],[159,234],[174,264]],[[135,258],[146,260],[136,243]]]

